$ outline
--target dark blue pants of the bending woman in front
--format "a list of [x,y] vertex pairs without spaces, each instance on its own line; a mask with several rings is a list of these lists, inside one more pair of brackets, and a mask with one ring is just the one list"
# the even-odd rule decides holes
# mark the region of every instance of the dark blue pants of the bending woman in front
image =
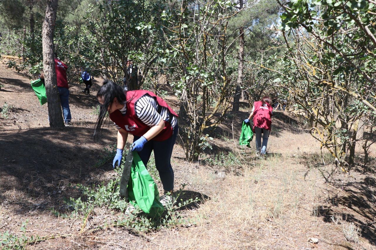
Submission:
[[[163,189],[166,191],[174,189],[174,170],[171,167],[171,155],[178,131],[179,128],[176,124],[170,138],[162,142],[150,140],[149,142],[145,143],[143,150],[138,152],[144,165],[147,166],[150,155],[152,154],[152,151],[154,151],[155,167],[159,172]],[[139,136],[134,136],[133,142],[139,138]]]

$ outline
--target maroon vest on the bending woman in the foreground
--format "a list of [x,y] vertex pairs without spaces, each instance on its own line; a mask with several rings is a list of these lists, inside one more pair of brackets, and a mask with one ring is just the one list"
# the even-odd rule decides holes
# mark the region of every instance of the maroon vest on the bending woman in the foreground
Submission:
[[[115,110],[110,114],[110,119],[115,122],[123,130],[126,130],[128,133],[133,134],[134,136],[143,136],[147,131],[150,130],[150,126],[143,123],[136,115],[135,103],[139,98],[148,94],[153,98],[156,98],[156,101],[159,105],[159,108],[165,107],[168,108],[171,115],[178,116],[174,110],[159,96],[156,96],[153,92],[147,90],[131,90],[126,91],[126,105],[127,112],[123,115],[120,110]],[[157,110],[160,113],[160,110]],[[152,140],[155,141],[164,141],[172,136],[173,129],[171,127],[170,121],[165,121],[165,127],[163,130]]]

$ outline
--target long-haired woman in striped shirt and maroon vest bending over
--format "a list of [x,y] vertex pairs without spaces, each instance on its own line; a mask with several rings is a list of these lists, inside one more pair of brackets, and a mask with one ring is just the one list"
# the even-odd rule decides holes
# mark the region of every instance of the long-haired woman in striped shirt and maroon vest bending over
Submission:
[[[112,166],[120,165],[128,134],[133,135],[132,151],[137,151],[147,166],[154,151],[155,166],[164,189],[160,198],[162,205],[174,203],[174,171],[171,155],[178,133],[178,115],[160,97],[147,90],[128,90],[110,80],[103,81],[97,93],[101,105],[94,129],[94,138],[100,132],[108,111],[118,129],[117,153]],[[134,209],[134,208],[133,208]],[[132,212],[131,209],[127,209]]]

